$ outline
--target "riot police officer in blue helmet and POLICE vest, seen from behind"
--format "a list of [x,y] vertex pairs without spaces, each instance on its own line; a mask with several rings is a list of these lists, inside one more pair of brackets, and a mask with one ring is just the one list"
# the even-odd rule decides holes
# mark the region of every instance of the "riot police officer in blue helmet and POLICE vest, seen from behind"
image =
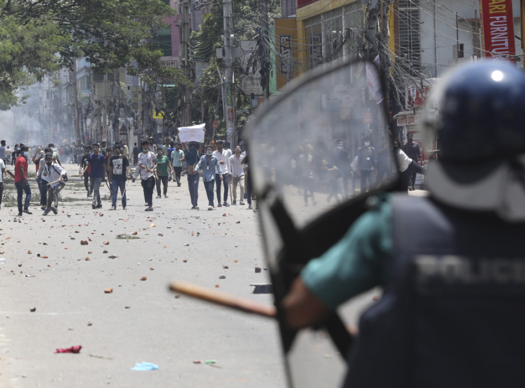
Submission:
[[525,74],[501,60],[458,67],[434,88],[424,130],[440,148],[430,196],[378,198],[309,262],[282,311],[309,326],[380,285],[345,386],[523,386]]

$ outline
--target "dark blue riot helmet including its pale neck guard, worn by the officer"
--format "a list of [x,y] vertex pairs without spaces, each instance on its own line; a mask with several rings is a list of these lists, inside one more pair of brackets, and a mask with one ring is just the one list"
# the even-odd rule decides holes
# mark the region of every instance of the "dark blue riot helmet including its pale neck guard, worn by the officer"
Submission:
[[425,114],[439,148],[425,178],[431,195],[525,222],[525,73],[496,59],[460,66],[433,89]]

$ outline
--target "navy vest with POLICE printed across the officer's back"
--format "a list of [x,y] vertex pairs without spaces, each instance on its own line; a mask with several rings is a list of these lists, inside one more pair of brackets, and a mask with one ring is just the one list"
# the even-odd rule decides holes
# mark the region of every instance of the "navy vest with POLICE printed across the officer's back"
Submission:
[[525,387],[525,225],[396,195],[392,229],[345,386]]

